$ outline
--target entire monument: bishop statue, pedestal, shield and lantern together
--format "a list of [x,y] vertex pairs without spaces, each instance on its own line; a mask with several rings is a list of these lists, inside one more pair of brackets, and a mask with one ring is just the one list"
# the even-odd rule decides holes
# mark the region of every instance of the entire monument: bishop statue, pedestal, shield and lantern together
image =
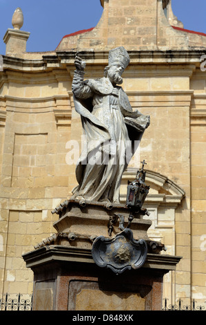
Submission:
[[125,48],[114,48],[104,77],[84,81],[85,62],[76,56],[72,91],[87,143],[76,166],[79,185],[52,211],[56,234],[23,255],[34,272],[34,310],[160,310],[163,275],[181,259],[160,254],[164,244],[147,236],[145,161],[119,202],[134,142],[150,125],[119,86],[129,62]]

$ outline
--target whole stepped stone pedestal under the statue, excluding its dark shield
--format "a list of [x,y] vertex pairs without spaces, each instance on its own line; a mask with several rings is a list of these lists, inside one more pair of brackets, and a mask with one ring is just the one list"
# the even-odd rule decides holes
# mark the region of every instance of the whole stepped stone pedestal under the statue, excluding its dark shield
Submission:
[[[134,239],[147,243],[145,263],[116,275],[94,263],[92,243],[96,236],[121,232],[127,207],[66,201],[54,212],[60,217],[54,223],[57,234],[23,255],[34,272],[33,310],[161,310],[163,276],[181,257],[160,254],[164,245],[147,236],[150,221],[136,215],[130,226]],[[125,223],[114,216],[124,216]]]

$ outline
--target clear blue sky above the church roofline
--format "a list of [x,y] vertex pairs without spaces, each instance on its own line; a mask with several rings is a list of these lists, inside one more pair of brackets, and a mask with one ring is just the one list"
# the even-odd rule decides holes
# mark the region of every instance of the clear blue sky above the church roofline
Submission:
[[[17,7],[23,10],[21,29],[31,33],[29,52],[55,50],[64,35],[96,26],[103,12],[100,0],[0,0],[0,54]],[[185,29],[206,33],[205,0],[172,0],[172,8]]]

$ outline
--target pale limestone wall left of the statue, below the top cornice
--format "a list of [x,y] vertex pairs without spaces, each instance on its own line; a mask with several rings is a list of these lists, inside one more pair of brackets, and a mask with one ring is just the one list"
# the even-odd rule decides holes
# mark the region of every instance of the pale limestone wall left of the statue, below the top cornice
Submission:
[[[56,75],[57,73],[57,75]],[[1,290],[31,293],[21,254],[54,232],[51,209],[68,196],[71,107],[66,71],[3,71],[1,126]]]

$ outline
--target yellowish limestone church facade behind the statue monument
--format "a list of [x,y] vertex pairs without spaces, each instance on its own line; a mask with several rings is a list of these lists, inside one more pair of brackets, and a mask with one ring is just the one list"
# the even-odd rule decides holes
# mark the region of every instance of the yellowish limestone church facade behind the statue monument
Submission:
[[[99,1],[99,0],[96,0]],[[55,232],[51,211],[72,195],[82,145],[72,79],[78,52],[85,79],[103,76],[108,53],[124,46],[130,65],[123,88],[134,110],[150,115],[138,159],[147,162],[145,207],[151,239],[181,256],[165,275],[163,297],[206,301],[206,35],[185,30],[171,0],[101,0],[96,27],[65,35],[54,51],[26,52],[29,32],[13,24],[0,71],[0,293],[32,293],[22,254]],[[88,8],[89,10],[89,8]],[[21,12],[20,14],[21,15]],[[15,22],[15,17],[14,17]]]

